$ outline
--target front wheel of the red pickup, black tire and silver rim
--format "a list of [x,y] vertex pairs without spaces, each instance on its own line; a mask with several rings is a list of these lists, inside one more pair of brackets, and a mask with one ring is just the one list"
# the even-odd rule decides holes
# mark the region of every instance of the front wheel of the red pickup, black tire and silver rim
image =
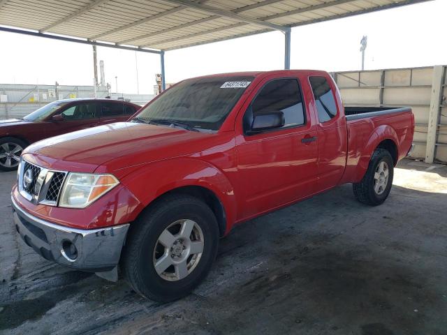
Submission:
[[[187,231],[191,222],[193,230],[188,241],[182,232]],[[176,233],[173,229],[177,229],[177,225],[179,231]],[[163,237],[169,233],[175,237],[174,244],[172,237],[162,238],[162,233]],[[170,248],[161,243],[166,244],[165,239],[169,239]],[[179,239],[182,239],[179,244],[184,251],[177,244]],[[193,254],[193,244],[198,246],[200,243],[202,253]],[[216,258],[218,244],[219,228],[210,207],[190,195],[167,195],[142,211],[131,224],[120,267],[126,281],[142,297],[159,302],[173,301],[189,295],[205,278]],[[157,267],[160,271],[165,261],[174,260],[185,260],[186,271],[189,271],[186,276],[184,266],[179,265],[172,265],[161,274],[157,272],[156,265],[161,265]]]

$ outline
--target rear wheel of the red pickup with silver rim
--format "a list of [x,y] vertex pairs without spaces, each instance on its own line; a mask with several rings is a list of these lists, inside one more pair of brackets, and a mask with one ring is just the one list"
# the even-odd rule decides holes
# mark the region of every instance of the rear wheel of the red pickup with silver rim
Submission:
[[[383,174],[381,173],[382,168]],[[388,170],[388,174],[386,174],[386,170]],[[384,177],[386,175],[388,175],[388,179]],[[357,200],[363,204],[369,204],[369,206],[382,204],[390,194],[393,175],[394,162],[390,152],[386,149],[376,149],[369,161],[365,176],[360,183],[353,184],[353,193]]]

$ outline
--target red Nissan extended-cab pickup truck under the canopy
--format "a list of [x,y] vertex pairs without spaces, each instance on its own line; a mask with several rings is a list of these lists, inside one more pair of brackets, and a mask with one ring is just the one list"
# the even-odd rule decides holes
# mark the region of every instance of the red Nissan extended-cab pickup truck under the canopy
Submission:
[[170,301],[238,223],[345,183],[381,204],[413,127],[409,108],[344,108],[323,71],[184,80],[128,122],[28,147],[14,221],[47,260],[111,280],[119,268],[140,295]]

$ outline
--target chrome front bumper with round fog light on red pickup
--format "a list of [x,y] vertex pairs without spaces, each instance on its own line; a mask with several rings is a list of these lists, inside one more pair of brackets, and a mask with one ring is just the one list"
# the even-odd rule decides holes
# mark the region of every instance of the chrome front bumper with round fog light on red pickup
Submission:
[[129,223],[94,230],[68,228],[41,220],[11,200],[17,232],[43,258],[92,272],[117,266]]

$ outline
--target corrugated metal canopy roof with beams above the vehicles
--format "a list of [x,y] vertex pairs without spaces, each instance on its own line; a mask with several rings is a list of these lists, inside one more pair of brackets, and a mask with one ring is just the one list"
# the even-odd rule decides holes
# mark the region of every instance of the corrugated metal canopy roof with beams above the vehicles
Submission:
[[0,30],[159,53],[424,1],[0,0]]

